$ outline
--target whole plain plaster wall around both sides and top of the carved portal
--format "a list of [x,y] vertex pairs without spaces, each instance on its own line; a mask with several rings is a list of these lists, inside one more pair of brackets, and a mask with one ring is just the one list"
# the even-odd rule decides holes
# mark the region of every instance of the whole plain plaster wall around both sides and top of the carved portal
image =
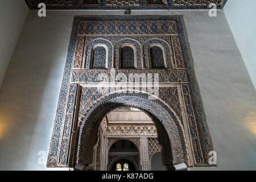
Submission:
[[[74,15],[123,11],[30,11],[0,90],[0,169],[44,170]],[[171,15],[132,11],[131,15]],[[217,167],[256,169],[253,84],[223,11],[172,11],[184,16]],[[254,127],[254,128],[253,128]],[[192,168],[200,169],[200,168]]]

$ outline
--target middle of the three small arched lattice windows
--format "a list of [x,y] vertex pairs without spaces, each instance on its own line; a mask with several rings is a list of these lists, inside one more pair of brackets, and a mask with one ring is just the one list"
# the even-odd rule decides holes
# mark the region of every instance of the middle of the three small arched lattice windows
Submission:
[[121,48],[121,68],[135,68],[134,49],[130,46]]

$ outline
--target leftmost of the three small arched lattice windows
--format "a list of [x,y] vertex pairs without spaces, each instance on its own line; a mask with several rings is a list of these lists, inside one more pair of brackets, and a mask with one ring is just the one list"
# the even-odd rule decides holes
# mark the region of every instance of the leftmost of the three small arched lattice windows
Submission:
[[93,50],[91,68],[106,68],[106,48],[103,46],[98,46]]

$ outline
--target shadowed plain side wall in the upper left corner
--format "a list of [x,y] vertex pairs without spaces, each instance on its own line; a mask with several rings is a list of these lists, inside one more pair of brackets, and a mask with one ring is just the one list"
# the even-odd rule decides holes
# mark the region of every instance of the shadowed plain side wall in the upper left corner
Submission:
[[24,1],[0,0],[0,88],[27,14]]

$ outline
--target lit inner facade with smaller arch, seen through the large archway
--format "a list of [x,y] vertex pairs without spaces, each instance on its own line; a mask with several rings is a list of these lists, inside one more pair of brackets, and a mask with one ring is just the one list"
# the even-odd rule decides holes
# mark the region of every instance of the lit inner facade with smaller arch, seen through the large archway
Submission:
[[[102,119],[94,147],[95,170],[151,170],[152,156],[160,144],[155,122],[144,111],[121,106]],[[159,158],[159,163],[162,159]]]

